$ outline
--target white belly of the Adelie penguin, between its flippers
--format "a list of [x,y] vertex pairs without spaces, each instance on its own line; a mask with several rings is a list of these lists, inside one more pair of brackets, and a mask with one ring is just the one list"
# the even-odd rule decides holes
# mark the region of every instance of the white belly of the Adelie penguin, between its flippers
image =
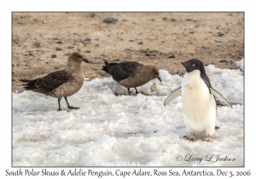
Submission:
[[212,136],[215,130],[216,103],[207,84],[200,77],[200,71],[186,72],[182,83],[183,115],[190,132],[207,132]]

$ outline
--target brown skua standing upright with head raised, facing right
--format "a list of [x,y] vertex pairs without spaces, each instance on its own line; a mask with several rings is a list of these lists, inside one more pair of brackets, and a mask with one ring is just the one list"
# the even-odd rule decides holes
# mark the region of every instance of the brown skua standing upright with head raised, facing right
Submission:
[[20,79],[25,90],[49,95],[58,99],[59,108],[61,111],[61,98],[64,97],[69,109],[79,109],[79,107],[71,107],[68,104],[67,97],[78,92],[84,84],[84,71],[81,66],[82,61],[89,63],[79,52],[73,52],[67,59],[65,69],[51,72],[43,78],[32,80]]

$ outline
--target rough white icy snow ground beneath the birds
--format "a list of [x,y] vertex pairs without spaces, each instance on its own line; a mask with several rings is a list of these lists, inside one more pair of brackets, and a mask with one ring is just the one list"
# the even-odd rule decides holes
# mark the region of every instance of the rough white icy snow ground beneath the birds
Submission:
[[[58,112],[55,98],[13,93],[13,166],[243,166],[243,72],[206,71],[212,87],[235,104],[218,107],[220,129],[210,142],[201,141],[200,133],[195,141],[183,139],[188,131],[181,97],[164,107],[182,77],[164,70],[161,83],[154,79],[137,88],[146,95],[134,95],[134,89],[127,95],[111,77],[85,79],[67,98],[79,110],[70,111],[62,99]],[[156,92],[150,91],[153,83]]]

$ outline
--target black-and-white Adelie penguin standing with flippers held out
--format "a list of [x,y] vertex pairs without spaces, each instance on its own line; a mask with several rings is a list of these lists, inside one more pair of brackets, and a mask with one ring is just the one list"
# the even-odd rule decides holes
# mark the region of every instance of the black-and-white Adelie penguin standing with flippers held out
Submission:
[[192,59],[181,64],[186,68],[182,86],[166,98],[164,105],[166,106],[181,95],[184,123],[190,132],[190,135],[183,137],[193,141],[195,140],[195,132],[205,132],[207,136],[202,140],[211,141],[216,121],[215,97],[224,101],[229,107],[231,105],[217,90],[212,89],[201,61]]

